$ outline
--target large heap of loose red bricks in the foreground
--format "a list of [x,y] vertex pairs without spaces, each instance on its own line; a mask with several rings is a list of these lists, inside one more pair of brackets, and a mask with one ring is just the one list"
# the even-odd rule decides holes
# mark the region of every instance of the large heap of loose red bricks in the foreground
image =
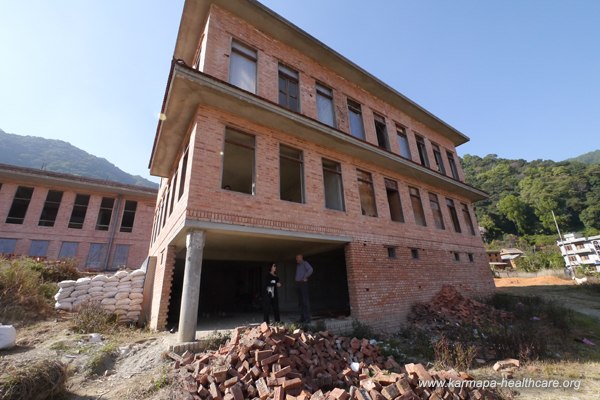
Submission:
[[495,399],[484,390],[426,388],[419,381],[471,379],[455,371],[402,368],[370,341],[328,332],[285,328],[236,328],[218,351],[169,355],[175,360],[180,399]]

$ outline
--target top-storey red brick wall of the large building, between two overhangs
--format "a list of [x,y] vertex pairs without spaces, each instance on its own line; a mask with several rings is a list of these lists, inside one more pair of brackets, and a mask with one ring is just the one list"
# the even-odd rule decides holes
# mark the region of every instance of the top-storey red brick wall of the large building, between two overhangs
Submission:
[[[430,165],[435,168],[431,142],[440,145],[446,173],[451,176],[446,150],[456,154],[454,144],[445,136],[432,130],[420,121],[409,117],[401,110],[392,107],[373,94],[366,92],[352,82],[349,82],[335,72],[323,68],[317,60],[313,60],[297,50],[271,38],[245,21],[216,7],[211,7],[211,14],[203,42],[203,64],[200,66],[204,73],[227,81],[229,79],[229,54],[231,40],[237,39],[258,52],[257,94],[270,101],[278,101],[278,63],[288,65],[300,72],[300,112],[310,118],[317,117],[315,82],[319,81],[333,89],[336,125],[338,129],[349,132],[347,98],[352,98],[362,104],[363,122],[366,140],[377,144],[373,112],[386,118],[387,132],[391,151],[398,154],[399,144],[396,137],[396,125],[405,126],[411,148],[412,160],[420,163],[414,134],[425,137]],[[458,156],[454,157],[460,180],[464,180],[463,171]]]

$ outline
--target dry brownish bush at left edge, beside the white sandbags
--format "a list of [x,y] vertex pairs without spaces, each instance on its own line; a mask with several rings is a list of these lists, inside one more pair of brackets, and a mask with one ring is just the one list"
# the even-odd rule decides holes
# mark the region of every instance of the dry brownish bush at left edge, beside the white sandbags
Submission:
[[52,312],[57,287],[45,283],[28,259],[0,260],[0,319],[4,323],[37,320]]

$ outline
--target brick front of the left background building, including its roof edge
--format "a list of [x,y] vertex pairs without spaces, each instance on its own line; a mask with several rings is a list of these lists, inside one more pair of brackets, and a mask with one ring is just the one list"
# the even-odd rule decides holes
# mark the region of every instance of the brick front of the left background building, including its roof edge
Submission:
[[[30,254],[32,241],[44,241],[48,247],[43,257],[55,260],[59,258],[63,243],[77,243],[73,258],[82,270],[90,269],[87,260],[92,243],[106,245],[107,252],[110,248],[105,265],[95,266],[93,269],[117,268],[117,265],[113,265],[115,249],[121,245],[128,246],[127,267],[138,268],[148,256],[156,196],[154,189],[13,166],[0,167],[0,184],[0,239],[16,240],[15,255],[27,256]],[[23,222],[7,223],[19,186],[33,188],[33,194]],[[40,226],[40,215],[49,190],[63,192],[62,199],[54,225]],[[77,194],[90,196],[81,229],[69,228]],[[97,230],[98,211],[103,197],[115,199],[115,205],[108,230]],[[121,232],[120,224],[127,200],[137,202],[137,208],[131,232]]]

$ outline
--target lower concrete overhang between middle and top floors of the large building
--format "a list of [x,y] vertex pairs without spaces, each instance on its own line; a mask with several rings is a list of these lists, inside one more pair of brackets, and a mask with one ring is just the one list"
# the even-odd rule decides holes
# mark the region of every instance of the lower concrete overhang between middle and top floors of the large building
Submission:
[[163,106],[166,119],[158,125],[150,160],[152,175],[169,176],[190,123],[198,107],[202,105],[221,109],[267,128],[310,140],[324,148],[334,148],[341,153],[409,176],[419,182],[441,187],[471,201],[487,198],[487,194],[479,189],[333,129],[317,120],[289,111],[278,104],[183,65],[181,62],[174,62],[171,69]]

